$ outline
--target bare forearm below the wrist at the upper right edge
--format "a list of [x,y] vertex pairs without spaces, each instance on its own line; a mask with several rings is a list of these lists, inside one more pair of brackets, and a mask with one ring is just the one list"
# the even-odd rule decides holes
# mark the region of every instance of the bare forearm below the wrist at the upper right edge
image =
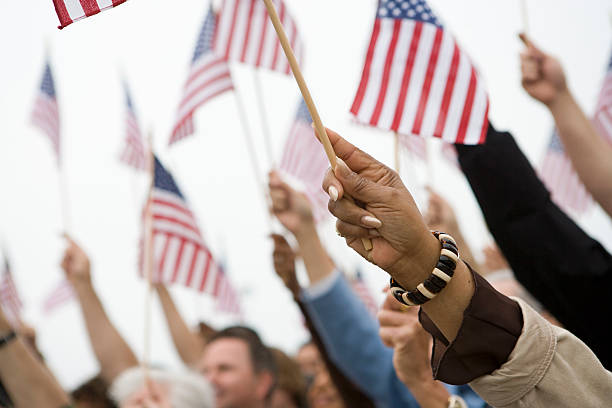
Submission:
[[569,90],[548,108],[578,176],[593,198],[612,215],[612,146],[597,133]]

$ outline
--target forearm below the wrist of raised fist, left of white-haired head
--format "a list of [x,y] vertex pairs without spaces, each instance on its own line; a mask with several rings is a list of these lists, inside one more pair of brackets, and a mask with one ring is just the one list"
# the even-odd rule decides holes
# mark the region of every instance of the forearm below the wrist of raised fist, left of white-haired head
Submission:
[[136,356],[111,323],[91,282],[74,285],[89,341],[100,364],[100,375],[110,384],[124,370],[138,365]]

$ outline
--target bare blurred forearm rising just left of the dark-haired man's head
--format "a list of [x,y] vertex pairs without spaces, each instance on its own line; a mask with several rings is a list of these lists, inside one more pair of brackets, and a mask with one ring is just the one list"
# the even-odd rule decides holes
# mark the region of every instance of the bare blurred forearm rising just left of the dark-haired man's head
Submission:
[[181,360],[188,366],[194,366],[202,356],[204,351],[204,341],[199,335],[193,333],[181,314],[179,313],[168,289],[163,285],[155,287],[159,300],[170,329],[170,335],[174,342],[174,347],[178,352]]

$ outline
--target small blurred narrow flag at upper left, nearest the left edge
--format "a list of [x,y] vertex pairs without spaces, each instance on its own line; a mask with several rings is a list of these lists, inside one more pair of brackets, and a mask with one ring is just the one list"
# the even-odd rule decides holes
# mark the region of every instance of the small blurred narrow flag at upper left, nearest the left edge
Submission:
[[59,110],[57,108],[57,97],[55,95],[55,85],[51,66],[47,61],[40,84],[38,96],[32,109],[31,121],[49,136],[55,156],[59,163],[60,160],[60,132],[59,132]]

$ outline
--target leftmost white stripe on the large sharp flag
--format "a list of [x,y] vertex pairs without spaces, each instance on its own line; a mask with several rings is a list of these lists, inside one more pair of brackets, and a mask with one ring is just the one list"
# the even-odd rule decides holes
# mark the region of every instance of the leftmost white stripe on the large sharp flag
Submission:
[[380,20],[378,38],[376,39],[374,53],[370,63],[368,86],[363,95],[359,112],[357,112],[357,118],[360,122],[369,123],[372,118],[372,112],[374,112],[376,102],[378,101],[378,93],[380,92],[380,85],[382,84],[382,76],[385,69],[385,58],[392,35],[393,21],[390,21],[390,19]]

